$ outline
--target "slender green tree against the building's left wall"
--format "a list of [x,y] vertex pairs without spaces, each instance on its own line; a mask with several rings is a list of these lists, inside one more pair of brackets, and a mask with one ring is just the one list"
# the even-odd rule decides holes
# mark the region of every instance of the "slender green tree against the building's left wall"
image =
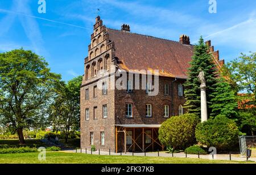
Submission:
[[64,133],[66,143],[71,129],[75,132],[80,127],[81,83],[82,76],[77,76],[67,84],[62,82],[61,86],[56,89],[57,96],[48,110],[53,130]]

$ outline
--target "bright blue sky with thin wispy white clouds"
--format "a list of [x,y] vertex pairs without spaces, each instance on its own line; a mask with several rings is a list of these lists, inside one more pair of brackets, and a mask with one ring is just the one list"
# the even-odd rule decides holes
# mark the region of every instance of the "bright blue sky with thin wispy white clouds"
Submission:
[[226,62],[256,52],[256,1],[217,0],[216,14],[209,13],[208,2],[46,0],[46,14],[39,14],[38,0],[0,0],[0,52],[33,50],[53,72],[72,79],[84,74],[98,14],[109,28],[126,23],[131,32],[175,41],[186,34],[192,44],[202,35]]

